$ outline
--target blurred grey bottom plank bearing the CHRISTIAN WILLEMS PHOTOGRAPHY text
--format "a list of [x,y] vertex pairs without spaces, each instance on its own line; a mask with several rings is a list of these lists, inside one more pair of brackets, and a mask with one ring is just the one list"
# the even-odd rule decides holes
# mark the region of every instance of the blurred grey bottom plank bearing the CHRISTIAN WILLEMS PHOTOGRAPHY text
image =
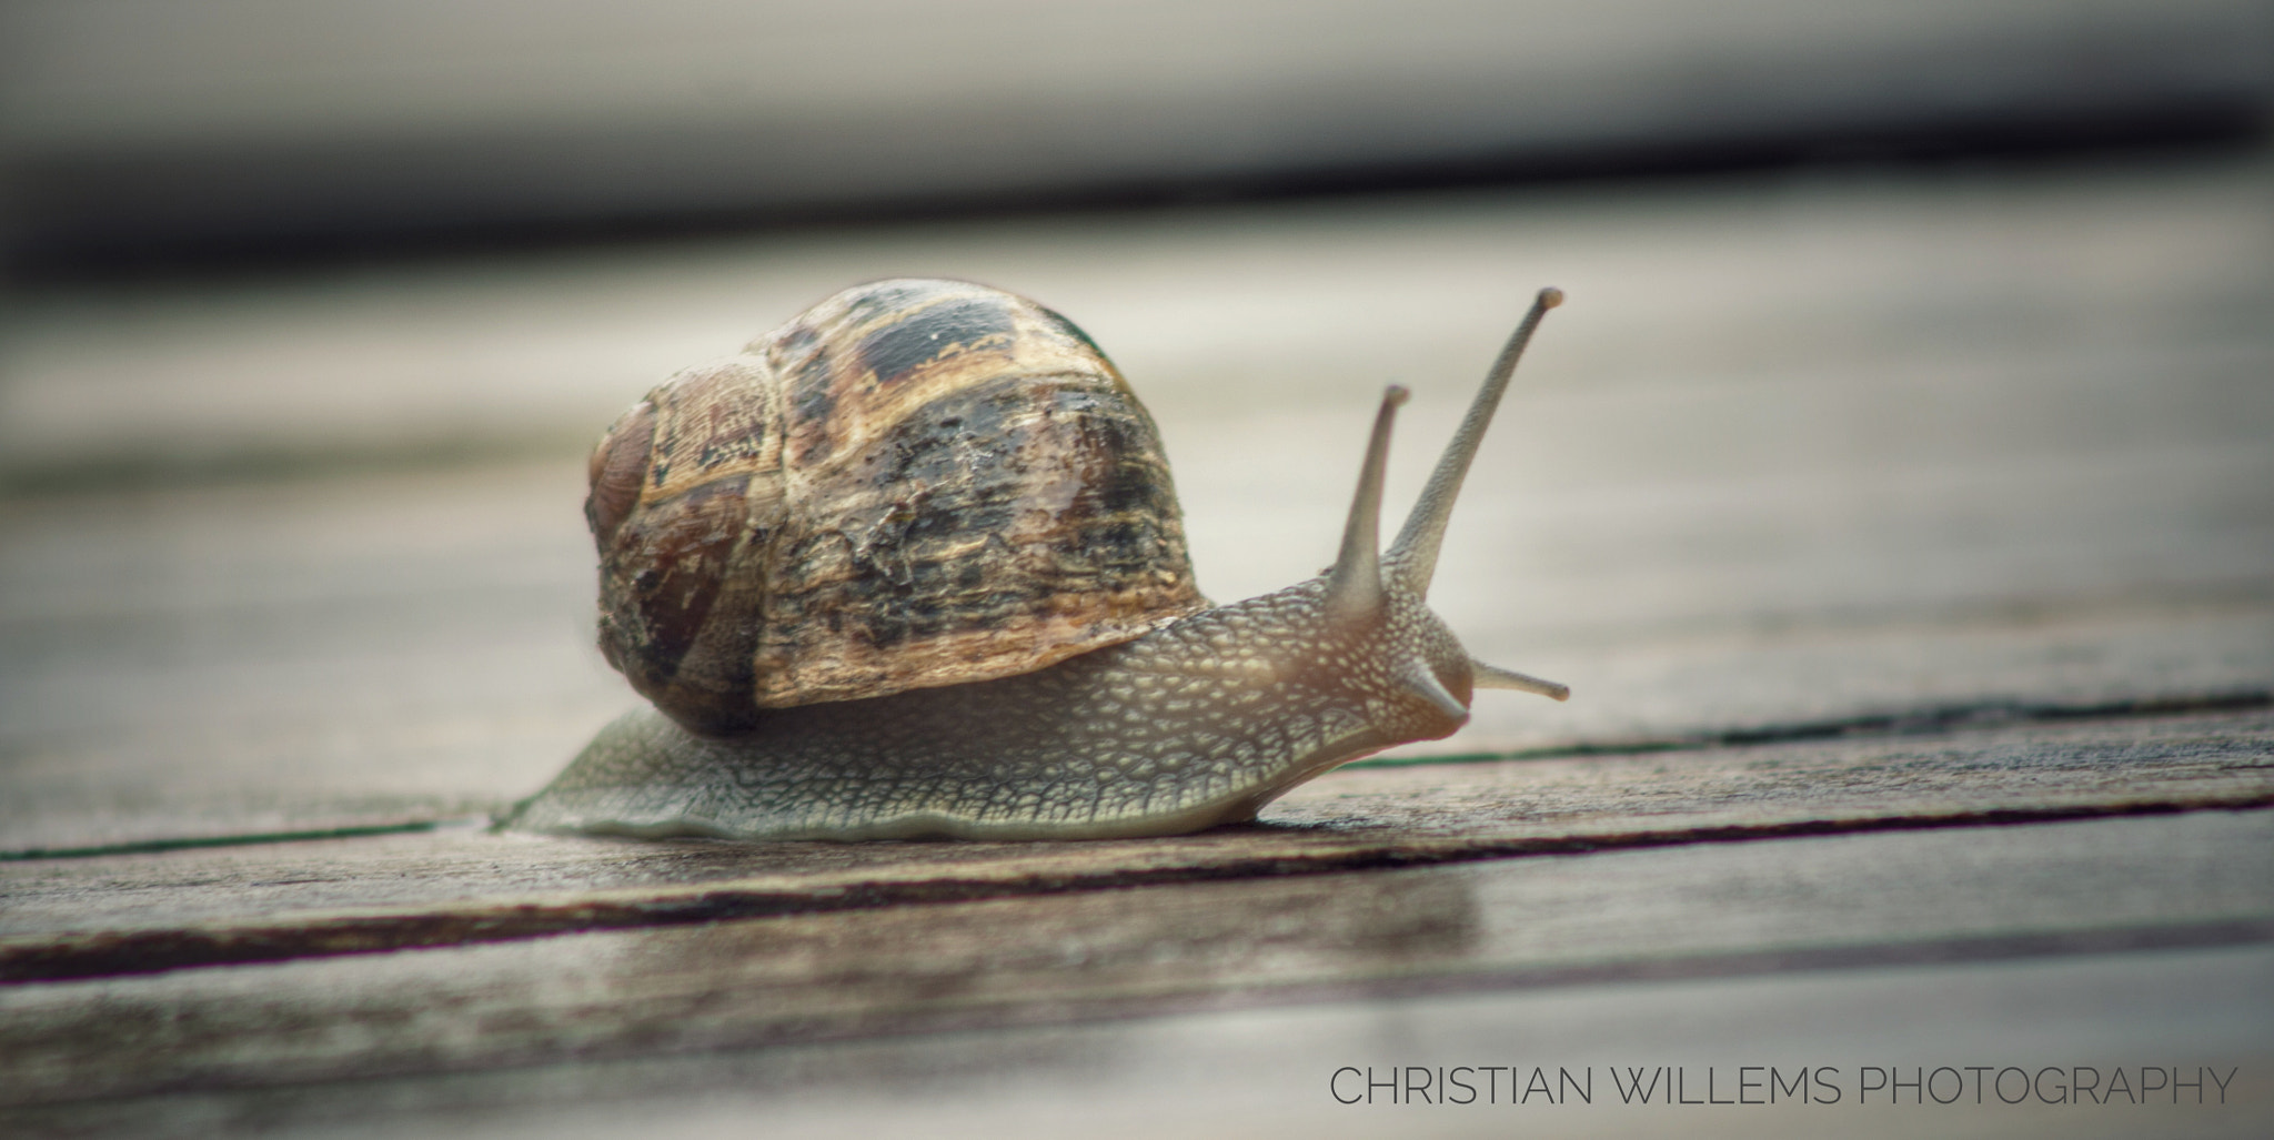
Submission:
[[[1462,990],[1317,1006],[1226,1008],[1087,1024],[1010,1026],[666,1058],[582,1060],[478,1074],[0,1108],[27,1135],[600,1138],[655,1135],[1198,1135],[1385,1133],[1574,1138],[2258,1138],[2274,1081],[2265,947],[1833,969],[1624,985]],[[2169,1104],[1856,1104],[1865,1065],[2217,1065]],[[1835,1104],[1621,1104],[1610,1067],[1740,1065],[1840,1072]],[[1549,1106],[1330,1101],[1342,1065],[1594,1067],[1594,1099]],[[2158,1065],[2163,1067],[2163,1065]],[[2240,1072],[2233,1072],[2240,1069]],[[1760,1074],[1749,1074],[1760,1076]],[[2194,1074],[2190,1072],[2190,1079]],[[1685,1083],[1687,1083],[1685,1081]],[[2010,1081],[2010,1079],[2008,1079]],[[1610,1085],[1610,1088],[1605,1088]],[[1505,1088],[1505,1085],[1503,1085]],[[1940,1085],[1949,1092],[1947,1079]],[[2012,1085],[2008,1083],[2008,1090]],[[1758,1094],[1751,1094],[1758,1099]],[[1703,1099],[1685,1092],[1685,1099]]]

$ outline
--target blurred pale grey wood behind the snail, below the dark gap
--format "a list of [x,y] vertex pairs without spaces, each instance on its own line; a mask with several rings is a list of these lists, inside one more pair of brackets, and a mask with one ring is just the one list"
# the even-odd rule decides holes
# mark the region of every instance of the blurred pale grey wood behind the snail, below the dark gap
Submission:
[[[9,478],[164,478],[0,498],[0,849],[532,792],[632,701],[589,649],[584,444],[882,273],[1094,332],[1226,598],[1333,557],[1387,380],[1417,391],[1396,514],[1562,284],[1433,601],[1576,696],[1485,694],[1437,751],[2267,692],[2269,171],[1396,196],[23,298]],[[277,464],[307,478],[173,480]]]

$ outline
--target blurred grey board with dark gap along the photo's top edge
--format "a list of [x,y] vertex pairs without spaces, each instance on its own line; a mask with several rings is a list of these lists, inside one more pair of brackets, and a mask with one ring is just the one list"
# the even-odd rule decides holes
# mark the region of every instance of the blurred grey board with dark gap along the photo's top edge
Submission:
[[236,257],[2258,137],[2251,0],[11,0],[11,250]]

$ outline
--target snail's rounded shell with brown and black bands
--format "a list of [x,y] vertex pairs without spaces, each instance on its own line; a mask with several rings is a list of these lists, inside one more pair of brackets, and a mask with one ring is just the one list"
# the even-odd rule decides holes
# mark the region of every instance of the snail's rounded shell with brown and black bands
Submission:
[[1032,300],[846,289],[609,428],[600,651],[698,733],[1026,674],[1198,612],[1153,416]]

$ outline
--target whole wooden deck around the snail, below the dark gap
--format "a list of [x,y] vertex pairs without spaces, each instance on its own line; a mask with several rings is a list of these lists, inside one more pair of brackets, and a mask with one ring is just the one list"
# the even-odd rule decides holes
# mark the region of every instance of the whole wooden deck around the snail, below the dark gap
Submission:
[[[2269,191],[1746,177],[20,298],[0,1133],[2263,1135]],[[1571,703],[1178,840],[487,831],[632,701],[589,437],[887,273],[1080,321],[1219,598],[1330,557],[1389,380],[1410,498],[1565,287],[1433,601]],[[1842,1099],[1719,1106],[1753,1065]],[[2094,1092],[1867,1090],[1981,1065]],[[1699,1104],[1621,1094],[1660,1069]]]

